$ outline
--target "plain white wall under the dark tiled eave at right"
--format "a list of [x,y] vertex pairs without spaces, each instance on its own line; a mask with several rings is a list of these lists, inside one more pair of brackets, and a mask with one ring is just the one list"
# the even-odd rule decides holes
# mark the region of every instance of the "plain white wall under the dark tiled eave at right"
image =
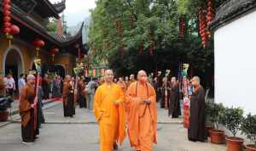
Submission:
[[215,100],[256,115],[256,11],[214,33]]

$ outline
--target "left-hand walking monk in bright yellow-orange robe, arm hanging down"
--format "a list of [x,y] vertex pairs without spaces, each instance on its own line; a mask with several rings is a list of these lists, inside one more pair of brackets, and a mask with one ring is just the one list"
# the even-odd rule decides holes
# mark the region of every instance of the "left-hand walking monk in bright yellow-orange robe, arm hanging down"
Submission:
[[125,139],[124,94],[113,83],[113,71],[106,70],[105,82],[96,89],[93,111],[99,124],[100,151],[117,149]]

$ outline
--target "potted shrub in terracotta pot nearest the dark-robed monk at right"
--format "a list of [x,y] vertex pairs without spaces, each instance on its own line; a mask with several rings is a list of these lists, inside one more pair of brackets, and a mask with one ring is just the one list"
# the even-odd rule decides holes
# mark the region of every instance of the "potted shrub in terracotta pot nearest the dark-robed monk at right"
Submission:
[[224,131],[218,129],[218,123],[223,117],[224,106],[222,103],[212,103],[209,120],[213,123],[213,129],[209,131],[211,143],[224,143]]

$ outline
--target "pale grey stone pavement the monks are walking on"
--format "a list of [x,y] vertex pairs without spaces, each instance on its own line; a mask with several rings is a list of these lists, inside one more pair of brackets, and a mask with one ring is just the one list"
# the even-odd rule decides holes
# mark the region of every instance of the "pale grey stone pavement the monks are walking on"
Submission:
[[[20,143],[20,123],[0,127],[0,151],[97,151],[98,130],[94,116],[87,109],[76,109],[73,119],[64,118],[62,103],[44,106],[46,124],[40,130],[38,141],[31,145]],[[224,145],[192,143],[187,139],[187,129],[182,118],[167,118],[167,110],[158,110],[158,143],[154,151],[224,151]],[[132,151],[129,140],[119,151]]]

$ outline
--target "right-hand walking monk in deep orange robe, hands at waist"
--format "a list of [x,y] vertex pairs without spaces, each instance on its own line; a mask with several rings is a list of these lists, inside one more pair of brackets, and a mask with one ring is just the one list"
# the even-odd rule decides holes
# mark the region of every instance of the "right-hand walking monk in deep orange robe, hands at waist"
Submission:
[[128,135],[131,147],[137,151],[153,151],[153,143],[156,143],[156,95],[144,70],[138,72],[137,81],[128,87],[125,103],[130,108]]

